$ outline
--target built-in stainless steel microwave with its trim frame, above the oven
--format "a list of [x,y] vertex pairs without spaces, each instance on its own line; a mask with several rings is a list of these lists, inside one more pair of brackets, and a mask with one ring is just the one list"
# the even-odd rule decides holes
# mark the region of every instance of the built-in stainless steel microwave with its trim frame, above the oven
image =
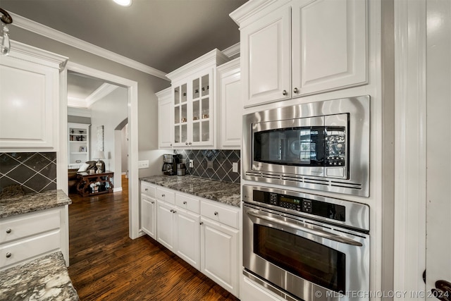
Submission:
[[369,197],[370,97],[244,116],[243,178]]

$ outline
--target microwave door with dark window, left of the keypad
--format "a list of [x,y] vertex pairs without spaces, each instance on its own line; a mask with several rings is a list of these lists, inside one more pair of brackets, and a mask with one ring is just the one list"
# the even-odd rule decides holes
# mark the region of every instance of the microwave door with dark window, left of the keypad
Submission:
[[253,123],[252,170],[324,175],[324,117]]

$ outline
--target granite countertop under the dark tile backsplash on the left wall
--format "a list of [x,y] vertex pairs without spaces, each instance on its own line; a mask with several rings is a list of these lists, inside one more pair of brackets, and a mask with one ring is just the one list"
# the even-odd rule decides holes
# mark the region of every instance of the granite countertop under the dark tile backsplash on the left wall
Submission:
[[63,190],[49,190],[30,193],[20,197],[0,199],[0,219],[68,204],[72,204],[72,201]]

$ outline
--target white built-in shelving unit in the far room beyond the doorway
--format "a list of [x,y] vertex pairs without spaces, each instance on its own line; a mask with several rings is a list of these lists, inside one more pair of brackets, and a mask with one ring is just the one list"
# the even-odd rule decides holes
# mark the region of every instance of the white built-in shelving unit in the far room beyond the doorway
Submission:
[[89,161],[89,124],[68,123],[69,168],[80,168]]

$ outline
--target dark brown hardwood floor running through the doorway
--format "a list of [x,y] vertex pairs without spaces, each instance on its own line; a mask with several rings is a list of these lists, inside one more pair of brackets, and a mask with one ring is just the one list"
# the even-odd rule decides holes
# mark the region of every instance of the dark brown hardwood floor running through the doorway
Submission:
[[128,237],[128,187],[70,195],[70,279],[80,300],[237,300],[147,235]]

